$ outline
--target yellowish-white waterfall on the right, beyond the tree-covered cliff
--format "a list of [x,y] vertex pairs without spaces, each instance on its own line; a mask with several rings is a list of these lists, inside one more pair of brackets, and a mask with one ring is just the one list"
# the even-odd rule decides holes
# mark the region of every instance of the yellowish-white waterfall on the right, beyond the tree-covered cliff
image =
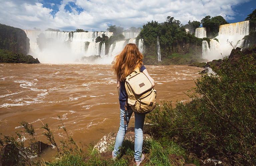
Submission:
[[[221,25],[215,39],[211,39],[209,44],[203,41],[202,58],[212,61],[228,57],[233,47],[243,46],[243,38],[247,35],[249,35],[249,21]],[[233,43],[233,47],[228,41]]]

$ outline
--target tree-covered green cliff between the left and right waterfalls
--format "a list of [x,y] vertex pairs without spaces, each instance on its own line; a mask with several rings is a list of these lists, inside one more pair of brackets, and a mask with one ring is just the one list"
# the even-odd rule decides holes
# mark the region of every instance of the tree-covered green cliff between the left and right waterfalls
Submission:
[[[157,38],[159,38],[161,61],[157,59]],[[144,40],[144,64],[190,64],[200,61],[202,39],[187,33],[179,20],[167,17],[164,23],[148,22],[143,25],[139,39]]]

